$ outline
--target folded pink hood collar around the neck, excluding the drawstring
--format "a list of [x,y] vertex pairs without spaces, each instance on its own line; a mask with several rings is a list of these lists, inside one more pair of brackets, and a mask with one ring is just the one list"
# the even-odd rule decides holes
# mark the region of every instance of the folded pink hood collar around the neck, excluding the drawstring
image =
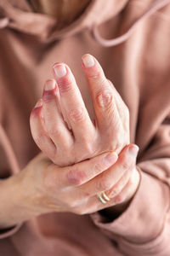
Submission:
[[0,7],[3,10],[3,15],[9,19],[9,27],[21,32],[31,33],[47,42],[74,35],[84,28],[89,28],[94,22],[100,24],[111,19],[123,8],[127,0],[122,0],[118,4],[116,4],[116,0],[111,0],[105,5],[103,3],[101,0],[91,1],[88,8],[77,20],[61,30],[57,29],[57,19],[49,15],[32,13],[31,9],[30,11],[18,9],[5,0],[1,0]]

